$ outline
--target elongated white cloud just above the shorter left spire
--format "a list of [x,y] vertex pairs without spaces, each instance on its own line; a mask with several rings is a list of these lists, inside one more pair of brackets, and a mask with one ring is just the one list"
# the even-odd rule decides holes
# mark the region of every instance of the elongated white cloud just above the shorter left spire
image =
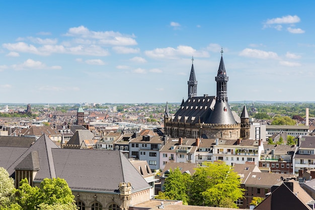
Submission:
[[157,59],[176,59],[179,56],[209,57],[209,53],[206,51],[195,50],[190,46],[183,45],[178,46],[176,49],[172,47],[156,48],[154,50],[145,51],[144,53],[148,57]]

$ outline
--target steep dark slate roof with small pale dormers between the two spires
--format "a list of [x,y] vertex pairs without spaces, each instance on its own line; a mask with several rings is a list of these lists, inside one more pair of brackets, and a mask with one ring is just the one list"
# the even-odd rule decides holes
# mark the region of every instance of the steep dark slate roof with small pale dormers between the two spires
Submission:
[[[205,123],[210,116],[215,100],[214,96],[195,96],[188,98],[175,113],[172,122]],[[186,118],[186,119],[185,119]]]

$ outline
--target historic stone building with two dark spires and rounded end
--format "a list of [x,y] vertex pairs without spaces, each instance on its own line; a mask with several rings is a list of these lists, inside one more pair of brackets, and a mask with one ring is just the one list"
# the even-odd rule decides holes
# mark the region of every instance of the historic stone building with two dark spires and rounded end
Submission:
[[[241,117],[232,112],[227,100],[228,76],[221,51],[219,69],[215,77],[216,96],[197,96],[197,80],[192,63],[188,81],[188,99],[182,101],[174,116],[168,103],[164,115],[165,134],[172,138],[248,139],[250,122],[244,106]],[[192,59],[193,61],[193,59]]]

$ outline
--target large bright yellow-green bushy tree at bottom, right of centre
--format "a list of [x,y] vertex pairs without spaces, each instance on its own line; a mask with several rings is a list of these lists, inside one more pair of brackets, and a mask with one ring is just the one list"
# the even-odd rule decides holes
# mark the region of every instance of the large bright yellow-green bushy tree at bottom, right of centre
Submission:
[[192,176],[190,202],[192,205],[237,207],[234,201],[243,198],[240,176],[223,161],[205,163]]

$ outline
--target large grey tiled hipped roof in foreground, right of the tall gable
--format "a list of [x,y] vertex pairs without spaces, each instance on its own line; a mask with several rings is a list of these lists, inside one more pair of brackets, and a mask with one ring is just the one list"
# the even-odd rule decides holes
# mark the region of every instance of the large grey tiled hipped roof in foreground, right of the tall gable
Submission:
[[150,186],[120,151],[52,149],[56,176],[72,190],[118,192],[120,182],[130,182],[132,192]]

